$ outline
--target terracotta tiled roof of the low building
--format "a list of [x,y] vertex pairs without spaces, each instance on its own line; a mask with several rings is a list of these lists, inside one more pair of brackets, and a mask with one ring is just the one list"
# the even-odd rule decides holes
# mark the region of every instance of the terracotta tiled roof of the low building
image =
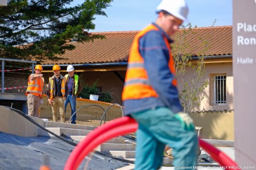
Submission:
[[[84,63],[112,63],[127,61],[131,43],[139,31],[118,32],[94,32],[93,34],[104,35],[104,40],[77,43],[75,50],[67,51],[59,61],[46,61],[43,64],[84,64]],[[193,33],[192,33],[193,32]],[[203,40],[208,40],[210,49],[205,53],[207,56],[220,56],[232,54],[232,26],[193,28],[187,39],[189,42],[185,52],[192,56],[202,56],[200,52],[204,49]],[[172,39],[174,45],[179,45],[183,31],[180,29]],[[201,39],[201,40],[200,40]]]

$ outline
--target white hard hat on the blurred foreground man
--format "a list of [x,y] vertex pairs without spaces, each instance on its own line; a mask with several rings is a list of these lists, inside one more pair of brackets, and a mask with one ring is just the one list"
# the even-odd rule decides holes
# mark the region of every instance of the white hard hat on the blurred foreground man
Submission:
[[184,0],[163,0],[158,7],[156,7],[156,11],[167,11],[171,15],[174,15],[176,18],[181,20],[187,20],[188,16],[188,6]]

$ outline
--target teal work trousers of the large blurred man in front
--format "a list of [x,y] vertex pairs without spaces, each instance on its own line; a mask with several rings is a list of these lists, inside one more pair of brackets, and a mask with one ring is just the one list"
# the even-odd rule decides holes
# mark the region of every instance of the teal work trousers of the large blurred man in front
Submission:
[[195,131],[181,127],[170,109],[159,107],[131,114],[139,124],[136,132],[136,170],[159,169],[166,145],[172,148],[175,169],[195,169],[198,139]]

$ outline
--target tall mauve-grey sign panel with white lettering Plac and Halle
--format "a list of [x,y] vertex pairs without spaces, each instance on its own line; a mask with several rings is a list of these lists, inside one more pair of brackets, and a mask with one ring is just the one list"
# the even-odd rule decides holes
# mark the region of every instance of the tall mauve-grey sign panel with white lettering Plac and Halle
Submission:
[[255,16],[255,0],[233,0],[234,146],[241,169],[256,169]]

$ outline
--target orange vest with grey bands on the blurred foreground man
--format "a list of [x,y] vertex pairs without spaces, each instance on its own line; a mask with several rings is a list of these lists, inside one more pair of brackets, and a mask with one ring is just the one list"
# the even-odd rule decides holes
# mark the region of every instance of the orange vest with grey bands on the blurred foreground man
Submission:
[[[158,94],[150,85],[147,71],[144,69],[143,57],[139,53],[139,39],[147,32],[158,29],[158,27],[151,24],[147,28],[143,29],[143,31],[139,32],[138,35],[135,37],[129,56],[129,65],[126,71],[125,86],[122,93],[123,101],[130,99],[143,99],[147,97],[158,97]],[[163,36],[163,38],[170,53],[168,66],[171,73],[175,74],[174,59],[172,57],[170,44],[166,37]],[[172,83],[174,86],[177,86],[176,79],[174,79],[170,83]]]

